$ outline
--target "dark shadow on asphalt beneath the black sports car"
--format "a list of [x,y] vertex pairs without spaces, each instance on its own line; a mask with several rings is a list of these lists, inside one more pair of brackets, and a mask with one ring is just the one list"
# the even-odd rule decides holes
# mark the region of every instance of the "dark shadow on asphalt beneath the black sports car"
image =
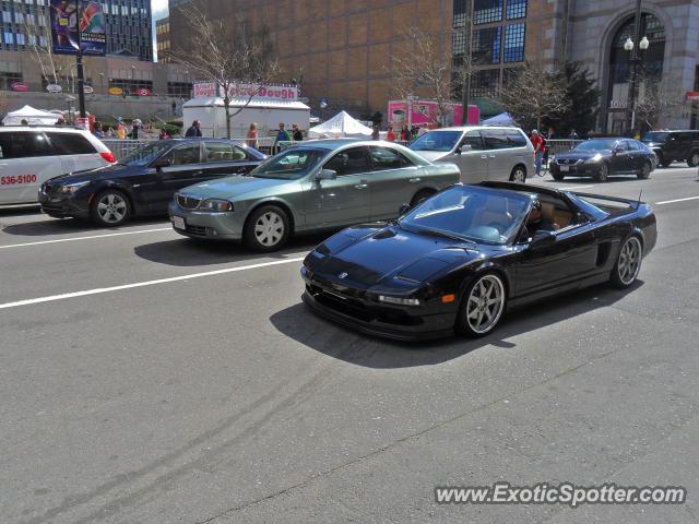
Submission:
[[606,285],[561,295],[556,300],[534,303],[509,312],[500,326],[483,338],[452,337],[439,341],[402,343],[372,337],[319,318],[303,303],[274,313],[270,321],[284,335],[348,364],[376,369],[406,368],[442,364],[485,346],[510,349],[517,335],[536,331],[578,315],[608,307],[643,285],[637,281],[629,289]]

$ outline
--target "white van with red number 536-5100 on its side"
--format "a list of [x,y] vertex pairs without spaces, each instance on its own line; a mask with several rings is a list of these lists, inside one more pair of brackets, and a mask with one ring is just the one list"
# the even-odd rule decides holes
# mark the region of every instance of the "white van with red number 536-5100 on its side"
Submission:
[[116,160],[109,148],[84,129],[0,127],[0,205],[37,202],[39,186],[49,178]]

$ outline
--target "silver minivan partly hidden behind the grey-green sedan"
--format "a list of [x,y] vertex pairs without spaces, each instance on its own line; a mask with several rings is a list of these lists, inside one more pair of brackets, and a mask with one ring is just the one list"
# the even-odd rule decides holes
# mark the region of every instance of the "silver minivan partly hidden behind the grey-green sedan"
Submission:
[[519,128],[469,126],[428,131],[410,148],[430,162],[457,164],[461,181],[524,183],[534,174],[534,147]]

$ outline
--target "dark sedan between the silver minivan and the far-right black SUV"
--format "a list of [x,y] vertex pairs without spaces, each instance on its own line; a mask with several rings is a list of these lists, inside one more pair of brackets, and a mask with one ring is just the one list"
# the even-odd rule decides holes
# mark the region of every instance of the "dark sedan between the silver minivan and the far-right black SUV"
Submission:
[[653,150],[638,140],[593,139],[552,157],[548,167],[556,180],[571,176],[592,177],[597,182],[605,182],[609,175],[617,174],[648,178],[656,165]]

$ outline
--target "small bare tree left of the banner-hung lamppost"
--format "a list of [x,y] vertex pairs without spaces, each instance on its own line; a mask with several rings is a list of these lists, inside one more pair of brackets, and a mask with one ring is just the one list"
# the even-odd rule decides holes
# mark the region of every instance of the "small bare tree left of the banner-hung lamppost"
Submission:
[[[39,19],[43,17],[43,23]],[[24,14],[24,34],[29,51],[48,84],[75,83],[75,59],[72,56],[56,55],[51,45],[51,25],[48,13]]]

